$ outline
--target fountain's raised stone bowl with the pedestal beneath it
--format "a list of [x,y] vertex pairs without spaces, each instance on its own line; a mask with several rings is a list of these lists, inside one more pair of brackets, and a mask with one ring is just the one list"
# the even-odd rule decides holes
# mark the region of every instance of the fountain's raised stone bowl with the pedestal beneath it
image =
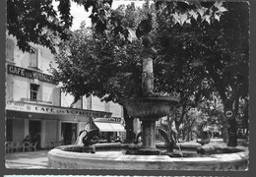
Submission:
[[120,103],[130,116],[142,121],[143,145],[138,149],[138,154],[160,154],[156,148],[156,121],[166,116],[178,100],[170,96],[152,96],[124,99]]

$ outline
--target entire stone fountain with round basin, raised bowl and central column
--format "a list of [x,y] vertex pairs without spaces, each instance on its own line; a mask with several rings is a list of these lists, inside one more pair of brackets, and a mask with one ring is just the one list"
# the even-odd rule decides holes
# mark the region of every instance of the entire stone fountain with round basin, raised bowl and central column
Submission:
[[[154,93],[153,55],[156,54],[148,31],[143,36],[144,50],[148,53],[143,58],[142,96],[135,96],[120,101],[130,116],[142,121],[143,144],[138,146],[124,144],[96,144],[93,150],[83,146],[72,145],[53,148],[48,152],[48,166],[50,168],[68,169],[129,169],[129,170],[245,170],[248,164],[248,150],[246,148],[223,148],[228,154],[190,155],[188,158],[160,155],[160,148],[156,145],[156,121],[166,116],[178,103],[170,96]],[[150,42],[149,42],[150,41]],[[166,146],[165,146],[166,147]],[[182,148],[191,148],[179,145]],[[202,153],[222,148],[202,148],[199,145],[193,149]],[[132,149],[132,150],[131,150]],[[84,152],[82,152],[84,151]],[[132,152],[131,152],[132,151]],[[194,153],[195,154],[195,153]]]

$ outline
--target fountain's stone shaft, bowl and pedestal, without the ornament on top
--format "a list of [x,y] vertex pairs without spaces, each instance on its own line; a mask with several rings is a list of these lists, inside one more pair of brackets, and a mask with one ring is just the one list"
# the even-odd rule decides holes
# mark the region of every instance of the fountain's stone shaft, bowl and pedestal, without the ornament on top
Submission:
[[156,148],[156,121],[169,114],[178,100],[170,96],[159,96],[153,92],[153,59],[143,59],[142,97],[132,97],[120,101],[128,114],[142,121],[143,145],[137,154],[160,154]]

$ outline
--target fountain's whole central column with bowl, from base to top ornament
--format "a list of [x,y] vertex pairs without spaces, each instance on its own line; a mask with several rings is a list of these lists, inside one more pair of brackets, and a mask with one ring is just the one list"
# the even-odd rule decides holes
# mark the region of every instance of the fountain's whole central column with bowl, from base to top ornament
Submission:
[[131,117],[142,121],[143,145],[138,148],[138,154],[160,154],[156,148],[156,121],[166,116],[178,100],[170,96],[160,96],[154,93],[153,57],[157,54],[150,36],[152,29],[152,15],[140,23],[136,29],[137,37],[142,38],[144,53],[142,73],[142,96],[135,96],[121,100]]

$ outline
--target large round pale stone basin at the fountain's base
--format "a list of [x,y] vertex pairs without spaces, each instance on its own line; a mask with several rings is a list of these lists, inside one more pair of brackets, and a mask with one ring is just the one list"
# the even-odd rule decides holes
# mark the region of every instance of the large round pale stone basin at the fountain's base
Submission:
[[[103,147],[107,148],[108,146],[100,145],[100,148]],[[235,153],[184,158],[167,155],[124,155],[121,150],[112,150],[109,149],[110,147],[105,151],[96,150],[96,153],[65,150],[65,148],[69,150],[72,146],[53,148],[48,152],[48,167],[60,169],[202,171],[244,171],[248,167],[248,148],[245,147],[236,147],[240,152]],[[115,148],[117,147],[118,145]]]

